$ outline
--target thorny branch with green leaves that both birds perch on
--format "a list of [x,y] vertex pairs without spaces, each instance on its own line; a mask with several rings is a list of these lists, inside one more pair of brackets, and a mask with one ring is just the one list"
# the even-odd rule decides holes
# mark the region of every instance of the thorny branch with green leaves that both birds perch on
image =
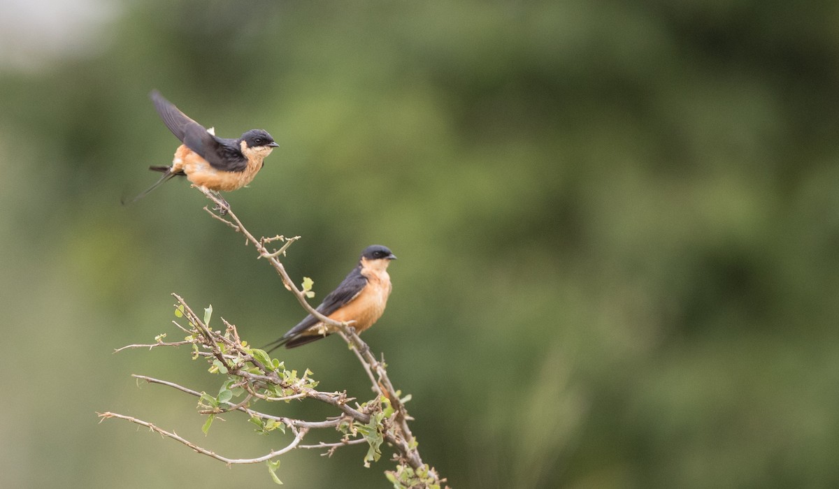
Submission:
[[[210,191],[199,190],[215,201],[216,205],[220,204],[216,195],[213,195]],[[357,336],[352,327],[320,315],[306,302],[305,298],[309,288],[298,289],[285,272],[282,263],[279,262],[279,257],[284,256],[286,249],[297,238],[257,239],[245,229],[242,222],[232,211],[229,211],[229,208],[226,216],[229,220],[213,214],[209,209],[207,211],[210,212],[211,216],[227,223],[235,231],[242,232],[248,238],[248,242],[257,248],[258,258],[264,258],[271,263],[279,273],[286,288],[297,296],[304,309],[310,315],[315,315],[323,324],[338,331],[341,337],[347,341],[347,344],[352,346],[352,351],[362,363],[364,372],[371,382],[373,397],[359,403],[355,398],[347,397],[346,392],[317,390],[317,382],[311,377],[311,372],[308,369],[300,374],[297,370],[285,367],[284,362],[272,358],[266,351],[249,346],[247,341],[242,341],[240,338],[236,326],[226,320],[221,319],[223,328],[214,330],[211,326],[211,308],[204,310],[204,314],[201,316],[196,315],[184,299],[175,295],[175,299],[177,299],[175,316],[177,316],[177,319],[174,323],[180,329],[180,332],[185,334],[183,341],[168,342],[165,341],[166,335],[161,334],[154,338],[154,343],[124,346],[117,351],[131,348],[190,345],[192,359],[204,359],[208,364],[208,372],[221,377],[218,392],[198,392],[175,382],[139,375],[133,377],[175,388],[182,393],[199,398],[199,413],[206,416],[202,428],[205,433],[211,429],[213,420],[221,414],[242,414],[249,417],[249,421],[255,426],[255,431],[259,434],[277,436],[285,434],[284,445],[259,457],[228,458],[195,445],[195,443],[175,434],[174,431],[159,428],[148,421],[111,412],[99,414],[101,419],[124,419],[134,424],[140,424],[227,465],[265,462],[268,465],[270,476],[277,483],[279,483],[279,477],[277,476],[279,457],[291,450],[324,450],[326,455],[331,455],[335,450],[344,446],[367,445],[367,451],[364,453],[362,460],[364,466],[369,466],[370,462],[379,459],[382,455],[383,445],[387,445],[393,450],[395,467],[393,467],[393,470],[385,471],[385,476],[388,481],[393,483],[393,487],[444,487],[446,479],[441,478],[433,468],[422,461],[416,439],[409,429],[408,421],[411,418],[404,403],[409,400],[410,396],[402,396],[399,391],[393,388],[383,361],[379,361],[373,356],[369,346]],[[283,242],[284,244],[279,249],[269,250],[268,246],[272,246],[271,243],[273,242]],[[310,287],[310,284],[306,285]],[[326,403],[334,408],[335,413],[326,419],[307,420],[267,414],[264,412],[266,409],[258,408],[261,403],[289,403],[292,400]],[[334,440],[305,444],[306,435],[319,429],[334,430]],[[274,433],[277,431],[281,434]]]

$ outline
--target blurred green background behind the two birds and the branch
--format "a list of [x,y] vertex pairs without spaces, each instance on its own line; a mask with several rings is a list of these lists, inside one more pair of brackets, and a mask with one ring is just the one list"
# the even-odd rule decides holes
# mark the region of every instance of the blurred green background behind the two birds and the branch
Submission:
[[[176,292],[253,344],[303,315],[185,181],[153,88],[280,148],[227,194],[321,299],[381,243],[364,337],[455,487],[839,485],[839,3],[12,0],[0,21],[0,486],[272,486],[284,446],[168,332]],[[316,300],[315,299],[315,300]],[[283,352],[367,398],[336,338]],[[314,403],[271,407],[323,416]],[[287,487],[387,487],[365,449]]]

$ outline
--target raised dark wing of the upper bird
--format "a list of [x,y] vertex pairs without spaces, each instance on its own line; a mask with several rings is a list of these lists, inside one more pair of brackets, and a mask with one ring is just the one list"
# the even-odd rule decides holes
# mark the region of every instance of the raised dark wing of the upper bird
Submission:
[[248,166],[248,159],[237,148],[235,139],[216,138],[208,133],[206,127],[180,112],[180,109],[160,95],[159,91],[152,91],[150,96],[154,101],[154,108],[166,127],[169,127],[169,131],[175,134],[175,138],[206,159],[213,168],[242,171]]

